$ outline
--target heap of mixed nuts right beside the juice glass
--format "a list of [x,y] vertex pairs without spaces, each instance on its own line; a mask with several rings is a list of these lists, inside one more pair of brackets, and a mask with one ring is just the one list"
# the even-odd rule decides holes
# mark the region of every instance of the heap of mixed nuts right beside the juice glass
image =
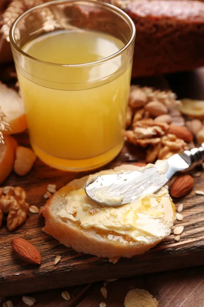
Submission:
[[147,148],[147,163],[168,159],[189,148],[187,143],[192,142],[193,134],[185,127],[180,107],[181,101],[171,91],[131,86],[125,139]]

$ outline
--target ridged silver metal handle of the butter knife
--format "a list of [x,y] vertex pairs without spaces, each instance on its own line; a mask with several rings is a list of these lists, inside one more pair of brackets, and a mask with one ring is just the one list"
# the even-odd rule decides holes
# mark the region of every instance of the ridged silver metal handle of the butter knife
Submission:
[[195,166],[200,165],[202,161],[204,161],[204,143],[202,143],[198,148],[185,150],[183,153],[180,153],[180,156],[189,165],[189,168],[186,170],[193,169]]

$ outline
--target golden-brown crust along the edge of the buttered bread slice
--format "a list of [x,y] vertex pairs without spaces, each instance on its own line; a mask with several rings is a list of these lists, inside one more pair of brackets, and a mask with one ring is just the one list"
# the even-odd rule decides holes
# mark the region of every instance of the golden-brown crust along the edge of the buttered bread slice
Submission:
[[[87,179],[88,176],[71,181],[47,201],[40,212],[45,217],[45,226],[42,231],[52,235],[60,243],[67,247],[72,247],[72,249],[79,253],[83,252],[112,259],[120,257],[131,258],[134,255],[143,254],[161,242],[161,238],[152,238],[149,244],[134,241],[124,241],[123,243],[118,240],[108,239],[108,237],[103,235],[103,231],[83,229],[76,222],[68,220],[65,223],[60,218],[57,218],[52,211],[54,210],[53,208],[56,208],[60,199],[64,198],[68,193],[83,188]],[[174,207],[173,204],[172,206]],[[104,234],[107,235],[106,231],[104,231]]]

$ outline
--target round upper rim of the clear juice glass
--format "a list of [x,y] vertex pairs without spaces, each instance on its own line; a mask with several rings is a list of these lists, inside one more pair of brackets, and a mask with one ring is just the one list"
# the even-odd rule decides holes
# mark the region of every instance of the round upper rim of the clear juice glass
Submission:
[[[55,5],[55,4],[63,4],[63,3],[89,3],[89,4],[97,4],[101,7],[105,7],[108,8],[110,10],[116,11],[117,13],[119,13],[119,15],[123,16],[125,18],[125,20],[127,21],[127,23],[129,23],[129,25],[131,26],[132,29],[132,34],[131,34],[131,38],[129,39],[129,41],[127,41],[127,43],[125,44],[125,46],[118,50],[116,53],[105,57],[103,59],[99,59],[97,61],[93,61],[93,62],[87,62],[87,63],[80,63],[80,64],[62,64],[62,63],[53,63],[53,62],[47,62],[38,58],[35,58],[31,55],[29,55],[28,53],[22,51],[16,44],[15,38],[14,38],[14,31],[16,26],[18,25],[18,23],[20,22],[21,19],[23,19],[24,16],[26,16],[27,14],[31,13],[32,11],[39,9],[39,8],[43,8],[43,7],[48,7],[49,5]],[[53,31],[54,32],[54,31]],[[49,32],[48,32],[49,33]],[[51,33],[51,32],[50,32]],[[9,30],[9,39],[10,39],[10,43],[12,45],[12,47],[21,55],[23,55],[24,57],[33,60],[35,62],[40,62],[42,64],[47,64],[47,65],[53,65],[53,66],[58,66],[58,67],[86,67],[86,66],[90,66],[90,65],[95,65],[98,63],[103,63],[106,62],[110,59],[113,59],[115,57],[117,57],[118,55],[122,54],[127,48],[129,48],[136,36],[136,29],[135,29],[135,25],[133,23],[133,20],[131,19],[131,17],[129,15],[127,15],[124,11],[122,11],[121,9],[119,9],[118,7],[113,6],[112,4],[109,3],[104,3],[104,2],[96,2],[94,0],[55,0],[55,1],[50,1],[47,3],[43,3],[40,5],[37,5],[33,8],[31,8],[30,10],[24,12],[23,14],[21,14],[12,24],[12,26],[10,27]]]

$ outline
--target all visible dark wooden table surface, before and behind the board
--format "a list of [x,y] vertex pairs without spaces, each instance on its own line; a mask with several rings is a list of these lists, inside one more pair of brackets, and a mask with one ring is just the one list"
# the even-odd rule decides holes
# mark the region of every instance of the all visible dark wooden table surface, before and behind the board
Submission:
[[[0,71],[0,79],[1,77]],[[153,83],[152,79],[140,80],[140,83],[152,85],[155,80],[158,84],[157,78],[153,80]],[[163,79],[161,80],[163,82]],[[179,98],[204,99],[204,69],[169,75],[166,76],[166,80],[171,89],[179,95]],[[155,263],[155,266],[157,265]],[[127,291],[141,288],[154,295],[160,307],[204,307],[204,267],[118,279],[109,282],[106,286],[107,299],[101,295],[100,288],[102,286],[103,282],[95,282],[84,286],[38,292],[31,294],[31,296],[37,300],[34,305],[36,307],[98,307],[102,301],[106,301],[107,307],[122,307]],[[61,293],[64,290],[70,293],[70,301],[62,298]],[[25,306],[22,302],[22,296],[13,296],[7,299],[13,302],[14,307]],[[3,306],[3,302],[0,303],[0,306]]]

